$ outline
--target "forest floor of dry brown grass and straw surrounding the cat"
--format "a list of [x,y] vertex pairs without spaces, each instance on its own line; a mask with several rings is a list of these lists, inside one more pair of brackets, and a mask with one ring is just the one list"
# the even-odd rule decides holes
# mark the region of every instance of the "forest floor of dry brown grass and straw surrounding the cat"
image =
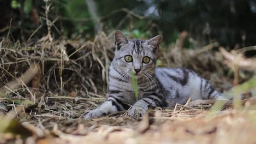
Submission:
[[[198,100],[156,108],[143,117],[120,112],[83,119],[106,100],[113,43],[104,33],[90,42],[52,41],[47,36],[23,44],[2,39],[0,144],[256,143],[254,98],[238,105],[228,101],[217,110],[214,100]],[[221,92],[253,77],[255,65],[240,68],[232,62],[248,59],[216,47],[214,43],[188,50],[170,45],[159,50],[157,64],[195,70]],[[232,65],[239,73],[229,68]],[[249,87],[255,88],[253,84]]]

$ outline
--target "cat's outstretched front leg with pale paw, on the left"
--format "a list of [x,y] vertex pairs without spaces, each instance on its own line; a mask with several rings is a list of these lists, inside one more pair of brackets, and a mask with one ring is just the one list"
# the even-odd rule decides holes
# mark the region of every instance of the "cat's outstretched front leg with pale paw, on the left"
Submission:
[[121,101],[120,96],[109,94],[107,101],[103,102],[99,107],[86,114],[85,119],[93,117],[106,116],[107,114],[117,111],[128,110],[130,106]]

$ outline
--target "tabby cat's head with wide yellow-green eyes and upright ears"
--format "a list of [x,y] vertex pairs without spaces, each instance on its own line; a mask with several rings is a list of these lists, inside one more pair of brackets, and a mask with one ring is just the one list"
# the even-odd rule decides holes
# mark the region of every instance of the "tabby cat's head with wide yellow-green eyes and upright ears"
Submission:
[[134,73],[142,76],[152,74],[156,63],[156,51],[162,41],[162,35],[149,40],[127,39],[120,30],[115,32],[115,57],[112,63],[119,73]]

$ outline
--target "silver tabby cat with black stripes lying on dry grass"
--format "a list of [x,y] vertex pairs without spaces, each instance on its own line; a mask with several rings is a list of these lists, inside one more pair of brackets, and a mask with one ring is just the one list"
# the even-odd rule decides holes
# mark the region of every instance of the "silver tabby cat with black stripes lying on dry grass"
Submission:
[[[174,107],[189,97],[211,99],[221,96],[213,86],[195,72],[185,68],[155,67],[156,52],[162,35],[150,40],[131,40],[116,30],[115,57],[110,65],[107,101],[90,111],[85,119],[128,110],[130,116],[143,116],[148,108]],[[135,74],[138,101],[131,74]]]

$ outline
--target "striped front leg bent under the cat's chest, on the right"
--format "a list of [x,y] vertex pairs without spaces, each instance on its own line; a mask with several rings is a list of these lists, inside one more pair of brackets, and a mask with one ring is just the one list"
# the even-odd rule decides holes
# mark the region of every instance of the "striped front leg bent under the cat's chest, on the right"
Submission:
[[166,107],[164,95],[161,93],[152,92],[137,101],[132,108],[128,111],[129,116],[143,116],[146,114],[148,108]]

